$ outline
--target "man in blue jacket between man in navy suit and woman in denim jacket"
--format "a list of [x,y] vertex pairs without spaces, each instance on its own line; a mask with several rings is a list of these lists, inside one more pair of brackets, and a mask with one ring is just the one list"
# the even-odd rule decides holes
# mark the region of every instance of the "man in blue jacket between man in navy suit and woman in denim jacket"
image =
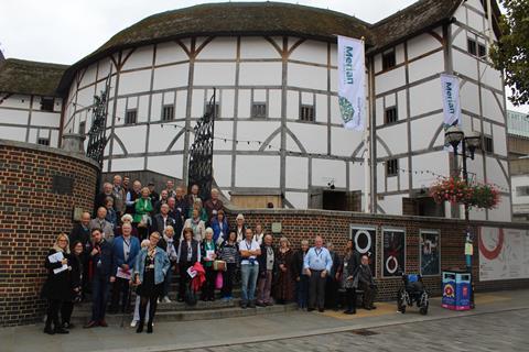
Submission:
[[114,270],[116,280],[112,285],[110,314],[119,310],[119,296],[121,297],[121,312],[126,312],[129,302],[129,282],[136,263],[136,256],[140,253],[140,240],[132,237],[132,226],[126,222],[121,227],[122,235],[115,238],[112,242]]

